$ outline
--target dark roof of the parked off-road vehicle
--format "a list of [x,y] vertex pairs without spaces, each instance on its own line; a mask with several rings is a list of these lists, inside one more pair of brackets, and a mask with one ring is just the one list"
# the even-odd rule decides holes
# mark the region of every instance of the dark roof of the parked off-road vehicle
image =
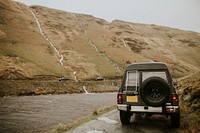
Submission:
[[133,63],[128,65],[126,68],[126,71],[130,70],[157,70],[157,69],[166,69],[167,65],[163,62],[139,62],[139,63]]

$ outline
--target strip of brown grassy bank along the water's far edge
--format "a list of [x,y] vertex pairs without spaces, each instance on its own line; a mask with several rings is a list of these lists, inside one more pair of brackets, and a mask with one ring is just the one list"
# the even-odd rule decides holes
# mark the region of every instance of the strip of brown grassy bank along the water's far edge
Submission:
[[[113,86],[113,81],[84,81],[74,82],[58,81],[41,77],[34,80],[0,80],[0,97],[4,96],[23,96],[23,95],[45,95],[45,94],[66,94],[66,93],[85,93],[83,86],[89,93],[117,92],[119,81]],[[49,77],[52,78],[52,77]]]

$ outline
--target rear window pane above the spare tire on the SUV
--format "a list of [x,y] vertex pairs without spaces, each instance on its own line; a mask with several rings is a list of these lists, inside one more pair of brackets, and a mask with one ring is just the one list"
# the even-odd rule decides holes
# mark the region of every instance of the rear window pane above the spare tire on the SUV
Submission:
[[160,77],[164,79],[166,82],[167,80],[167,75],[165,71],[160,71],[160,72],[142,72],[142,82],[148,79],[149,77]]

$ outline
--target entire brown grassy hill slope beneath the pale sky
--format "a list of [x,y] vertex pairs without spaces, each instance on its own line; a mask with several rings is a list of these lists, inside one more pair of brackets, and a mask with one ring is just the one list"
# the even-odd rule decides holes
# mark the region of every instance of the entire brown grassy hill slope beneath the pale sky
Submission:
[[120,20],[108,23],[90,15],[9,0],[0,2],[0,12],[1,78],[114,78],[122,75],[127,64],[139,61],[165,62],[174,77],[200,67],[199,33]]

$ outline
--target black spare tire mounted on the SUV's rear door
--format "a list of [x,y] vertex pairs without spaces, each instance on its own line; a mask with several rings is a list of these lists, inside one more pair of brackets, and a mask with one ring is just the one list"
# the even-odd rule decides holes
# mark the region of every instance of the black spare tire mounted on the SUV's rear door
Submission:
[[169,98],[170,88],[160,77],[147,78],[140,88],[140,95],[148,106],[159,107]]

